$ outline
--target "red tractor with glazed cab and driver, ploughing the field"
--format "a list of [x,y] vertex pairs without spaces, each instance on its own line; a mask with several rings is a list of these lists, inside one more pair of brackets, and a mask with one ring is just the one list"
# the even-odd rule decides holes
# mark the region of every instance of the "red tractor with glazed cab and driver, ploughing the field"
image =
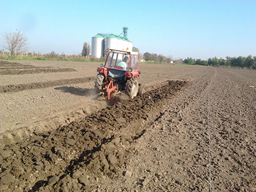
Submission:
[[105,61],[97,68],[95,90],[104,92],[111,100],[120,92],[125,92],[132,99],[143,92],[138,81],[140,77],[138,52],[110,49]]

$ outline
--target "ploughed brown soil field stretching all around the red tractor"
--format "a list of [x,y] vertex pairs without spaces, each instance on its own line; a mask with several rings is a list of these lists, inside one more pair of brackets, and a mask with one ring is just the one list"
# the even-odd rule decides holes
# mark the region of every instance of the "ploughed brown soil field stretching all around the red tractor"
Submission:
[[99,63],[0,64],[74,69],[0,76],[0,191],[256,191],[255,70],[141,65],[108,106]]

